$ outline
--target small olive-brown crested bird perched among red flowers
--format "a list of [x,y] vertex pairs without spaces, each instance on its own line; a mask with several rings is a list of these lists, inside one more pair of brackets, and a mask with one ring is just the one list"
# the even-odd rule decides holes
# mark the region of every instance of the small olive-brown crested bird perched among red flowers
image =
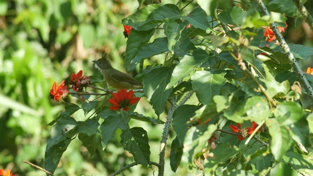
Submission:
[[116,89],[135,89],[142,88],[142,84],[135,80],[132,76],[118,71],[111,66],[111,63],[107,59],[107,55],[103,58],[92,61],[95,63],[94,67],[98,68],[103,75],[107,83]]

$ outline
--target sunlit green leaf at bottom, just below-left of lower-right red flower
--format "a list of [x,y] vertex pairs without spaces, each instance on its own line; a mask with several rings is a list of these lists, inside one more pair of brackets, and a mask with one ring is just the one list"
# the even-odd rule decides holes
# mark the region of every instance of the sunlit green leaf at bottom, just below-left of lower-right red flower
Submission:
[[225,163],[228,159],[231,159],[239,153],[238,148],[232,148],[227,143],[220,143],[216,145],[216,148],[210,151],[210,155],[204,160],[204,174],[212,175],[213,171],[219,164]]

